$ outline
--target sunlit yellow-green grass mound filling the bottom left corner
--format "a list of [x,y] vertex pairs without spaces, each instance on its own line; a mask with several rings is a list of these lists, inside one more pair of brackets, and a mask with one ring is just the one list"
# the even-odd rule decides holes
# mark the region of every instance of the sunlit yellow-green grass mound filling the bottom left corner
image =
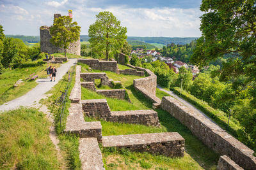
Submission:
[[33,108],[1,113],[0,169],[59,169],[49,125]]

